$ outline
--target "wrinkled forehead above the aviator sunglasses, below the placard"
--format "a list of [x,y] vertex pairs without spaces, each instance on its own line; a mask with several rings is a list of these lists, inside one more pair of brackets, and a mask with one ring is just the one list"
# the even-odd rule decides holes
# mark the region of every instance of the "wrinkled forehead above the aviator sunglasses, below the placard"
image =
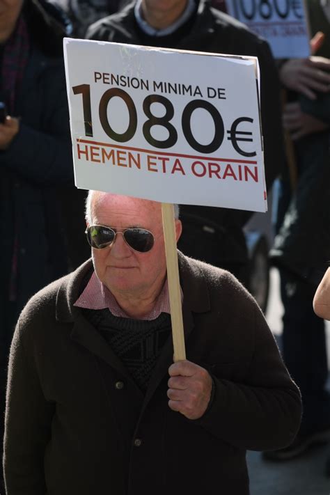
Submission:
[[[109,194],[100,191],[93,193],[91,201],[92,218],[107,218],[113,222],[118,219],[128,224],[156,223],[162,225],[162,205],[156,201]],[[113,220],[112,220],[113,219]]]

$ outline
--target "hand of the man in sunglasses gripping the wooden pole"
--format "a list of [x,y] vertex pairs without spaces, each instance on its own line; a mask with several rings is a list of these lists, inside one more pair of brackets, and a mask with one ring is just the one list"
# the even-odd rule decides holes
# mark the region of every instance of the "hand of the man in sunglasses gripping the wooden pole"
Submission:
[[168,406],[188,419],[203,416],[210,402],[212,378],[191,361],[178,361],[168,368]]

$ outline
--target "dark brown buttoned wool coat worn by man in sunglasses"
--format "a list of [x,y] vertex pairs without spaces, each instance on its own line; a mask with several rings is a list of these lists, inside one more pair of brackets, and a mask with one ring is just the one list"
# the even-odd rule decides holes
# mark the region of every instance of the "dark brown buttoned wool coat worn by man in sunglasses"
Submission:
[[197,421],[168,408],[171,339],[143,396],[72,306],[88,261],[36,294],[17,324],[8,495],[246,495],[245,450],[292,441],[299,391],[255,301],[228,272],[179,259],[187,359],[212,374],[212,407]]

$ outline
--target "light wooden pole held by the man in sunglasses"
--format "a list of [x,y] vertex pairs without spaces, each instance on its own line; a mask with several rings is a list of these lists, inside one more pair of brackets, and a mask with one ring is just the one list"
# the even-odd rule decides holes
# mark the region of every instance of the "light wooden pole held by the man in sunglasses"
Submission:
[[171,306],[172,336],[174,361],[186,359],[184,347],[184,331],[182,321],[182,304],[176,249],[174,207],[171,203],[162,203],[163,230],[166,252],[168,293]]

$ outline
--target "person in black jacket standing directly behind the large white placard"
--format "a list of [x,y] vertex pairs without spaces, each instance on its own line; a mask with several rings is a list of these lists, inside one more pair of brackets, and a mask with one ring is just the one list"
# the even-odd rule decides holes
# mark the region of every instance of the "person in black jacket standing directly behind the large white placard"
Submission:
[[[139,0],[120,13],[93,24],[86,37],[197,52],[258,56],[265,172],[267,187],[271,187],[284,164],[284,155],[278,75],[265,40],[204,0]],[[182,205],[180,212],[184,230],[179,249],[187,256],[228,269],[248,285],[248,254],[242,228],[251,213],[190,205]]]

